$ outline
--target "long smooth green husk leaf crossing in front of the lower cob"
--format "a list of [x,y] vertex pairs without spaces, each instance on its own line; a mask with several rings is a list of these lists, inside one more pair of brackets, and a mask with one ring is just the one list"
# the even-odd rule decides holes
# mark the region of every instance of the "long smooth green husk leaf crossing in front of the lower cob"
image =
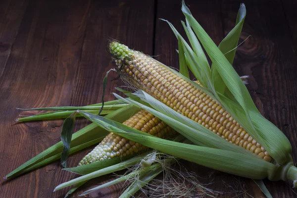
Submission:
[[[97,123],[99,126],[105,128],[106,130],[116,133],[129,140],[138,142],[149,148],[153,148],[161,152],[170,154],[174,157],[195,162],[199,165],[220,170],[226,173],[252,179],[264,179],[266,177],[269,178],[271,176],[274,176],[275,172],[279,168],[279,166],[277,165],[248,154],[217,148],[207,148],[196,145],[177,143],[174,141],[156,138],[138,130],[135,131],[131,127],[130,129],[125,131],[116,127],[118,125],[122,125],[121,123],[116,123],[116,126],[113,126],[112,124],[106,123],[105,120],[107,119],[104,117],[83,111],[80,111],[80,113],[83,114],[87,119]],[[121,128],[124,128],[124,125]],[[74,183],[71,182],[67,185],[63,185],[62,187],[64,188],[72,184]],[[57,187],[57,190],[58,189],[61,189],[61,186]]]

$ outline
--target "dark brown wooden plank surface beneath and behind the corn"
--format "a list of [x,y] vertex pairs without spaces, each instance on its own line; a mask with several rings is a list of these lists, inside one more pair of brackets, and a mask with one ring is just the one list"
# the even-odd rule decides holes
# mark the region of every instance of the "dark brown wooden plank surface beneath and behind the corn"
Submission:
[[[289,138],[297,162],[297,1],[187,0],[198,22],[218,45],[234,27],[241,2],[247,18],[234,67],[249,75],[248,90],[261,113]],[[76,176],[62,171],[58,161],[16,179],[7,173],[60,140],[62,121],[15,124],[16,107],[81,106],[101,102],[101,82],[114,67],[106,49],[113,38],[142,50],[168,66],[178,66],[177,40],[168,19],[183,32],[181,0],[2,0],[0,2],[0,198],[62,198],[68,189],[55,186]],[[184,35],[184,34],[183,34]],[[116,76],[115,73],[112,74]],[[122,83],[108,82],[105,99]],[[89,124],[79,119],[78,130]],[[68,159],[76,166],[92,148]],[[182,161],[197,172],[220,197],[264,197],[249,179]],[[85,185],[106,182],[101,177]],[[296,197],[289,182],[264,180],[274,198]],[[238,188],[240,187],[240,188]],[[116,198],[121,185],[89,195]],[[243,190],[247,193],[243,193]],[[82,190],[72,197],[78,197]],[[146,197],[141,194],[140,197]],[[148,195],[149,197],[149,195]]]

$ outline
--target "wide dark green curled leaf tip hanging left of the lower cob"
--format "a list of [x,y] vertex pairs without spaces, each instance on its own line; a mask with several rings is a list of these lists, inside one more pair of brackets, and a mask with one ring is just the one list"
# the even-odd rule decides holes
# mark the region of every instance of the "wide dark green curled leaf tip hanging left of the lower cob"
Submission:
[[67,166],[67,157],[70,151],[70,143],[72,139],[72,131],[74,128],[76,114],[77,111],[72,113],[68,118],[66,118],[62,126],[61,140],[63,143],[63,150],[61,153],[61,165],[64,168],[66,168]]

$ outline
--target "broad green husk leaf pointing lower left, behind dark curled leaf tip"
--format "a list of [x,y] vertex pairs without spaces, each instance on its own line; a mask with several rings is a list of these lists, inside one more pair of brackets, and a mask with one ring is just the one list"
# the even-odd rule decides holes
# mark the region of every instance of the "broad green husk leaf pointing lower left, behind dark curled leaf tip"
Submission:
[[[114,119],[118,122],[124,122],[129,117],[131,117],[131,115],[134,115],[139,110],[140,109],[138,107],[129,104],[126,107],[122,107],[118,110],[113,111],[112,113],[106,115],[106,117]],[[108,131],[101,129],[97,124],[92,123],[72,135],[71,148],[74,149],[75,147],[78,147],[90,141],[104,138],[107,134]],[[96,144],[96,142],[94,142],[94,144]],[[80,149],[83,148],[84,147],[80,147]],[[58,159],[59,157],[53,157],[49,160],[49,158],[54,155],[60,156],[62,149],[63,143],[62,141],[60,141],[57,144],[46,149],[45,151],[41,152],[40,154],[36,155],[35,157],[31,158],[30,160],[28,160],[27,162],[10,172],[9,174],[7,174],[5,178],[16,177],[18,175],[28,172],[29,170],[33,170],[33,168],[31,167],[35,166],[35,168],[37,168],[40,166],[44,166],[49,162]]]

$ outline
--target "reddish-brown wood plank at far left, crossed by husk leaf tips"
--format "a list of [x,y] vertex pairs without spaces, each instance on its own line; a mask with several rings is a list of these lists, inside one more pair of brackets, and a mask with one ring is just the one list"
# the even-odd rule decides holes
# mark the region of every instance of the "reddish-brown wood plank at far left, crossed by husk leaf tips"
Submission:
[[[14,124],[15,108],[70,104],[89,8],[90,1],[29,2],[0,81],[3,176],[59,141],[62,121]],[[60,177],[56,162],[5,183],[1,179],[0,197],[52,197]]]

